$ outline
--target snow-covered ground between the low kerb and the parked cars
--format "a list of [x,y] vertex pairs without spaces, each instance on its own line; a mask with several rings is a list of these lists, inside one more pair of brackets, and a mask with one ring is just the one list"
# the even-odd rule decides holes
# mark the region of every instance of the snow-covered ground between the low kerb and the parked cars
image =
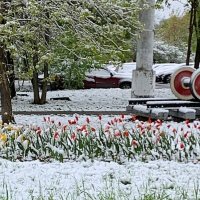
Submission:
[[[168,85],[160,84],[156,86],[155,97],[175,98]],[[60,90],[48,91],[47,104],[33,105],[33,93],[30,92],[30,83],[26,82],[19,95],[13,100],[14,111],[99,111],[118,110],[125,111],[128,100],[131,98],[131,89],[88,89],[88,90]],[[26,91],[26,92],[25,92]],[[28,91],[28,92],[27,92]],[[55,97],[69,97],[67,100],[50,100]]]

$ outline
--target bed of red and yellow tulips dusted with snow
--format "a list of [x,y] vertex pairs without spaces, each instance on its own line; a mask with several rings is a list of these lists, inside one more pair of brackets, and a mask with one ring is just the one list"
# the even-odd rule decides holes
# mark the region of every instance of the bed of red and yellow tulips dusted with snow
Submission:
[[89,117],[80,124],[78,116],[66,124],[47,117],[41,127],[1,124],[0,157],[13,161],[99,159],[120,163],[125,160],[200,160],[198,121],[186,120],[177,126],[122,115],[104,124],[102,116],[97,118],[95,127]]

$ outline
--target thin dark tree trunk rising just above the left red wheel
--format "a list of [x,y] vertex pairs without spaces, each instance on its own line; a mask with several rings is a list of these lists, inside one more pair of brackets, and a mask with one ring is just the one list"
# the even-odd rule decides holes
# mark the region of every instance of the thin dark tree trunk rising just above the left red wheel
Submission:
[[193,22],[194,22],[194,2],[192,2],[191,10],[190,10],[190,22],[189,22],[189,35],[188,35],[188,49],[187,49],[186,65],[190,64],[193,25],[194,25]]

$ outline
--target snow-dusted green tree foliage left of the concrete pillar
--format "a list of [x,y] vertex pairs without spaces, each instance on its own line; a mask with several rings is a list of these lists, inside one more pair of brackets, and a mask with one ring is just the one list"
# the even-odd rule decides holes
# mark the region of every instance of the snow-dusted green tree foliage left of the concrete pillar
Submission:
[[[30,77],[45,63],[77,84],[91,66],[131,57],[131,40],[141,26],[134,1],[12,0],[0,27],[0,42],[16,71]],[[76,84],[76,83],[75,83]]]

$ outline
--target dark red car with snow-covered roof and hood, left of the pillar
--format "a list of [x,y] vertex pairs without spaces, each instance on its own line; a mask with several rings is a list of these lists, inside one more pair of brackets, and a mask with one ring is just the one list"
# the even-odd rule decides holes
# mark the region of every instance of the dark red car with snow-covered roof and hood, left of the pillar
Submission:
[[118,73],[107,68],[93,69],[86,74],[84,88],[131,88],[131,74]]

